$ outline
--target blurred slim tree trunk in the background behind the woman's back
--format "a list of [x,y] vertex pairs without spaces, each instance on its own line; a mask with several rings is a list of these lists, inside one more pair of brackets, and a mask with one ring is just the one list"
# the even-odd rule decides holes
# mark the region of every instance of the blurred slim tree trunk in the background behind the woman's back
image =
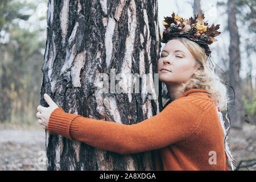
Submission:
[[234,101],[234,93],[229,89],[233,101],[229,106],[229,116],[232,126],[241,129],[242,121],[242,101],[241,101],[241,79],[240,79],[240,40],[238,34],[237,20],[236,20],[236,1],[228,1],[228,28],[230,34],[229,45],[229,84],[233,86],[236,98]]

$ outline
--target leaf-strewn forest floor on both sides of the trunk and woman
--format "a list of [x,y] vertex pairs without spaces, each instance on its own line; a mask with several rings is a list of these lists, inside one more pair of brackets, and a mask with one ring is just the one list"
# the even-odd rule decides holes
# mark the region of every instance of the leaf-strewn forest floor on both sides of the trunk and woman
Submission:
[[[0,171],[46,170],[45,132],[40,126],[3,125],[0,123]],[[256,159],[256,125],[245,123],[242,130],[232,129],[228,144],[237,164]],[[255,163],[256,160],[250,163]],[[242,162],[243,165],[249,164]],[[239,170],[256,170],[256,164]]]

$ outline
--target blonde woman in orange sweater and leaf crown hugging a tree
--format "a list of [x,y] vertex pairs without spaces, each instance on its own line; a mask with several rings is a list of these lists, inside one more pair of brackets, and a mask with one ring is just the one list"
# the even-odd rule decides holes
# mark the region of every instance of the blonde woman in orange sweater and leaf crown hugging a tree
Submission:
[[[65,113],[44,94],[49,107],[38,106],[38,122],[50,134],[119,154],[154,150],[158,170],[225,170],[226,130],[218,115],[229,101],[225,85],[209,66],[208,47],[194,41],[199,37],[194,34],[191,38],[193,32],[185,29],[187,25],[194,27],[198,16],[190,22],[174,14],[167,18],[162,37],[166,45],[158,60],[158,73],[170,101],[159,114],[137,124],[122,125]],[[197,25],[193,31],[199,31],[201,24]],[[183,34],[177,26],[183,27]],[[207,30],[203,32],[210,35]]]

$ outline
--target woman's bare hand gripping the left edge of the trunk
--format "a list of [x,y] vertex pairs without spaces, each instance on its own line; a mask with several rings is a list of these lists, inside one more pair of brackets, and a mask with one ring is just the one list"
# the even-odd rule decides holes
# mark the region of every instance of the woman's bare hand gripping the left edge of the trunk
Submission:
[[43,107],[39,105],[37,107],[38,112],[36,113],[36,117],[38,118],[38,123],[43,125],[44,129],[48,129],[48,121],[49,117],[53,110],[58,108],[57,104],[53,102],[52,98],[48,94],[44,94],[44,100],[46,100],[49,107]]

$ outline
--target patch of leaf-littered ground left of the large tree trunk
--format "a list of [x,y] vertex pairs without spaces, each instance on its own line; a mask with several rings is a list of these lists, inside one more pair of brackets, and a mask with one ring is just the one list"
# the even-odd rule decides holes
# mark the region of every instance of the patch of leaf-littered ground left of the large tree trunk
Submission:
[[0,124],[0,171],[46,170],[45,136],[40,127]]

